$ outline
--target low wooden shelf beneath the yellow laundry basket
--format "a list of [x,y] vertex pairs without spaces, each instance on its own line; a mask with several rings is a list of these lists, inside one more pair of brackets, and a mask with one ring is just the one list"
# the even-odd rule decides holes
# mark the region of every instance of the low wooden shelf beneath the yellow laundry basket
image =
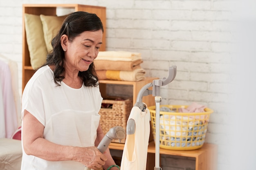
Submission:
[[[124,150],[124,144],[110,143],[110,149]],[[150,167],[147,166],[147,170],[153,170],[152,161],[155,162],[155,142],[148,143],[147,162],[150,163]],[[182,157],[194,157],[195,158],[195,170],[217,170],[217,154],[218,146],[215,144],[204,143],[202,148],[197,150],[168,150],[159,148],[160,154],[176,155]]]

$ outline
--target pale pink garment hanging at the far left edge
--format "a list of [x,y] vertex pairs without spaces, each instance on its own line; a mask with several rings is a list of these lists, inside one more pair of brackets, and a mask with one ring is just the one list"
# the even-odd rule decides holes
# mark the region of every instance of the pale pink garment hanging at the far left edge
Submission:
[[[4,107],[5,137],[11,138],[18,128],[16,104],[12,91],[11,71],[4,61],[0,60],[0,80],[2,86],[2,99]],[[1,117],[2,119],[2,117]]]

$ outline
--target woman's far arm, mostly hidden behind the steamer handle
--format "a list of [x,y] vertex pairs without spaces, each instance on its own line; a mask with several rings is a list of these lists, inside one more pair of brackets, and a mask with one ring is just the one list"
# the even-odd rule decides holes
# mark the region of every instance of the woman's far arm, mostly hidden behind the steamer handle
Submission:
[[[98,145],[99,145],[99,143],[100,143],[101,140],[103,139],[104,135],[105,135],[105,134],[103,133],[103,131],[102,131],[102,129],[101,129],[101,125],[99,124],[99,127],[98,127],[98,129],[97,129],[97,138],[96,138],[96,140],[95,140],[95,146],[98,146]],[[110,167],[111,165],[115,165],[116,163],[115,163],[115,161],[113,160],[112,156],[110,155],[110,150],[109,150],[109,148],[107,148],[107,150],[104,152],[104,155],[107,156],[107,161],[106,161],[105,165],[103,165],[103,168],[104,168],[104,170],[107,170],[108,167]],[[113,167],[113,168],[111,168],[110,170],[119,170],[119,169],[118,169],[117,167]]]

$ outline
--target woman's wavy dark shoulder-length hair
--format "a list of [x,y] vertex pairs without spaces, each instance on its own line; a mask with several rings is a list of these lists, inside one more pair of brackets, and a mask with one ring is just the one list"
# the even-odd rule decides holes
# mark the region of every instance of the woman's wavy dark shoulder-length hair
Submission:
[[[71,13],[63,21],[61,29],[54,39],[52,39],[53,50],[47,55],[46,63],[44,65],[54,65],[54,82],[57,85],[63,80],[65,68],[65,54],[61,47],[61,36],[67,35],[69,41],[73,39],[84,31],[99,31],[103,30],[103,24],[100,18],[93,13],[78,11]],[[89,66],[89,69],[78,74],[85,86],[97,86],[99,78],[94,69],[94,63]]]

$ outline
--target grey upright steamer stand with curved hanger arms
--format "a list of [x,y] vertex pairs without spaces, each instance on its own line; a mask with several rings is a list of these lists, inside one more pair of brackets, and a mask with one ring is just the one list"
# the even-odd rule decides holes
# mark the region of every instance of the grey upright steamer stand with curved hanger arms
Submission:
[[[145,105],[142,102],[143,96],[148,96],[149,94],[152,94],[152,96],[155,96],[155,117],[156,117],[156,124],[155,124],[155,168],[154,170],[162,170],[162,168],[159,166],[159,136],[160,136],[160,102],[162,100],[162,97],[160,96],[160,87],[167,85],[171,83],[175,76],[176,76],[177,68],[176,66],[171,66],[169,68],[169,75],[167,78],[153,80],[153,83],[148,83],[144,87],[141,88],[139,91],[139,94],[136,99],[135,107],[139,107],[141,111],[145,110]],[[149,90],[149,87],[153,87],[153,90]],[[126,126],[126,134],[132,135],[135,133],[135,121],[132,119],[129,119]]]

